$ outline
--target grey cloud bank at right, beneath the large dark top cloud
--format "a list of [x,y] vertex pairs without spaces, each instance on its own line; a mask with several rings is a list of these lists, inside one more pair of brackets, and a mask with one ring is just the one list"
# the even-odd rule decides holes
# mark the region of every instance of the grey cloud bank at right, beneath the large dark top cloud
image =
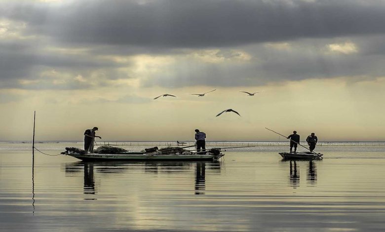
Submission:
[[[361,38],[353,41],[362,44],[364,40]],[[374,40],[380,39],[376,37]],[[232,87],[308,78],[384,76],[383,60],[385,57],[372,54],[374,47],[365,48],[363,51],[365,54],[359,52],[344,54],[328,50],[326,45],[328,42],[331,41],[328,39],[300,40],[292,42],[287,49],[276,49],[263,44],[238,47],[255,57],[246,62],[224,61],[202,64],[196,60],[195,62],[179,60],[175,66],[168,67],[173,70],[172,73],[160,74],[156,79],[144,82],[144,85]],[[224,53],[226,54],[226,52]]]

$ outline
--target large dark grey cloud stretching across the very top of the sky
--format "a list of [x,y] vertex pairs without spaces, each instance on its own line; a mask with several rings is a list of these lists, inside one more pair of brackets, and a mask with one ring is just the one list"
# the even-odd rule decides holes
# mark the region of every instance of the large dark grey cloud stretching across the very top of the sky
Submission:
[[381,0],[83,0],[1,11],[30,34],[84,44],[209,47],[385,32]]

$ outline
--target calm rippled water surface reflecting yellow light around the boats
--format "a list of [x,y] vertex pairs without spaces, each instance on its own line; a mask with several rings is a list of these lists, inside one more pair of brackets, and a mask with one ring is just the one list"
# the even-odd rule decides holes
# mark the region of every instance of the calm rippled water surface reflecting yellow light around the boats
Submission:
[[[82,144],[37,144],[58,154]],[[228,150],[218,162],[82,162],[0,143],[0,231],[384,231],[385,147]],[[142,147],[125,147],[141,150]]]

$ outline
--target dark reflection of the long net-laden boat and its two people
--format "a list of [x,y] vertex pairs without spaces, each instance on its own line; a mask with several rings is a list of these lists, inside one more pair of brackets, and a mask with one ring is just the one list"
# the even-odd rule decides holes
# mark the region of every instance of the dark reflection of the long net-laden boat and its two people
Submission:
[[[149,162],[127,162],[127,161],[108,161],[91,162],[78,161],[74,163],[65,163],[66,176],[76,176],[74,174],[84,173],[84,194],[97,194],[95,188],[95,176],[108,176],[109,174],[123,174],[130,169],[142,170],[144,173],[151,174],[175,174],[178,172],[192,171],[195,168],[194,194],[205,194],[206,190],[206,168],[211,173],[221,172],[220,161],[149,161]],[[95,197],[86,199],[96,200]]]

